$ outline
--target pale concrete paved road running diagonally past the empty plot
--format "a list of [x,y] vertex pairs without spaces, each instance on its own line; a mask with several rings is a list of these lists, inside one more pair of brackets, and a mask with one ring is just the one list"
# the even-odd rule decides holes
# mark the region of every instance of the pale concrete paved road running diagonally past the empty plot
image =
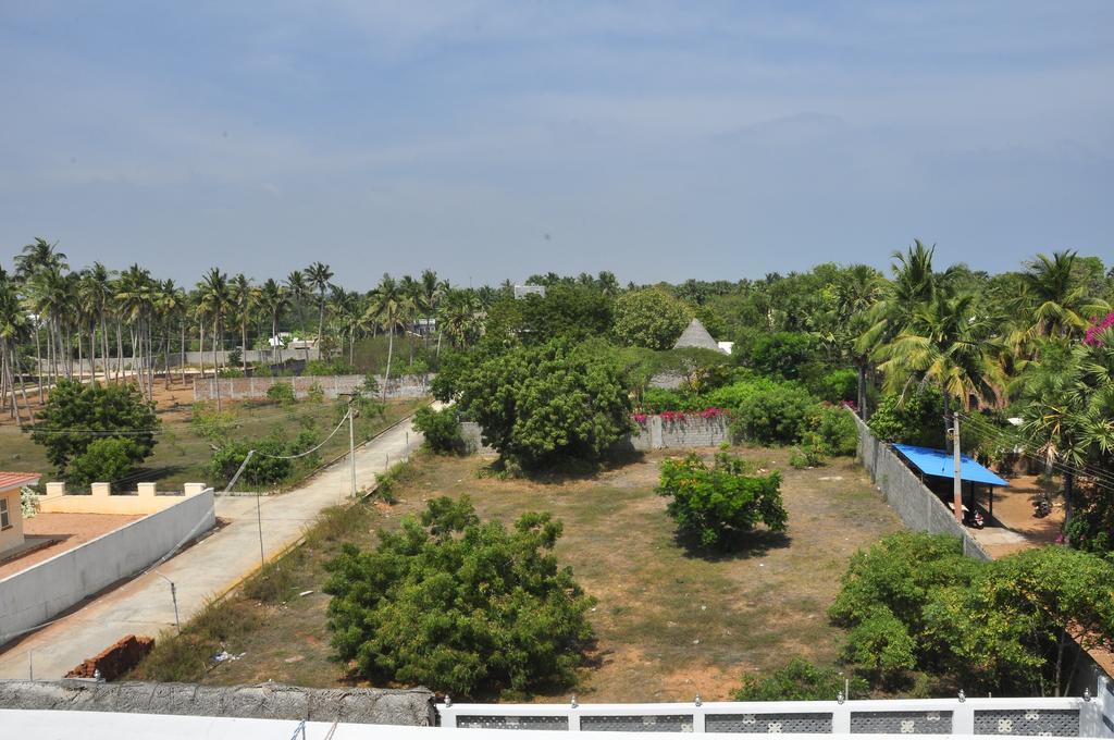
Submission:
[[[398,463],[420,441],[421,435],[404,422],[356,450],[358,486],[370,486],[377,473],[388,464]],[[295,542],[319,512],[344,502],[351,491],[351,480],[345,457],[301,488],[264,497],[261,513],[266,556],[270,558]],[[255,498],[248,496],[218,497],[216,515],[229,524],[158,567],[177,586],[183,622],[201,611],[206,598],[223,594],[260,566],[255,504]],[[26,679],[30,665],[36,679],[60,679],[124,635],[155,636],[173,626],[170,586],[156,573],[148,573],[0,654],[0,679]]]

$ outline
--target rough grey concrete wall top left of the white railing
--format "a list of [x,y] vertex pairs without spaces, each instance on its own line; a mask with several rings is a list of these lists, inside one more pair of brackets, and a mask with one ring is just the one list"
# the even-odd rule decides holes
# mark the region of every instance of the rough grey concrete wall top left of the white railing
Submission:
[[[190,683],[0,681],[0,709],[187,714],[364,724],[434,724],[426,689],[302,689],[278,683],[202,687]],[[289,736],[283,736],[289,737]]]

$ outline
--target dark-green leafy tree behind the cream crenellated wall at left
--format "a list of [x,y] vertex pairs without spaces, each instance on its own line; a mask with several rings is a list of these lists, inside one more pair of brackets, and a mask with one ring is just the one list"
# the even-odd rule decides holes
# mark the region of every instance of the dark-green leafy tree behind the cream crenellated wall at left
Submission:
[[144,400],[135,386],[61,379],[38,413],[31,439],[46,447],[47,459],[62,475],[71,459],[110,436],[106,432],[120,432],[130,440],[131,465],[143,463],[155,449],[159,425],[155,405]]

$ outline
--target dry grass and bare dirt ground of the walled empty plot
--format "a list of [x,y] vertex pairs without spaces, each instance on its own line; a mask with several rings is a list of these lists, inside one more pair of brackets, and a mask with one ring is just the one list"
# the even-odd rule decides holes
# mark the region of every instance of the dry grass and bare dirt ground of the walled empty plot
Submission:
[[[478,478],[480,458],[423,456],[400,487],[402,500],[375,514],[356,542],[373,543],[375,530],[440,495],[468,494],[482,518],[508,524],[526,510],[551,512],[565,525],[558,557],[597,600],[590,615],[597,643],[577,694],[594,702],[690,701],[697,692],[726,699],[744,671],[781,668],[794,656],[832,663],[842,633],[825,612],[849,558],[901,527],[853,460],[793,470],[786,450],[736,451],[783,471],[790,528],[784,536],[755,533],[730,555],[678,544],[665,499],[654,493],[661,452],[553,483]],[[350,683],[331,660],[321,562],[316,554],[301,558],[287,603],[234,603],[254,612],[258,626],[227,646],[245,655],[205,681]],[[558,699],[567,697],[538,698]]]

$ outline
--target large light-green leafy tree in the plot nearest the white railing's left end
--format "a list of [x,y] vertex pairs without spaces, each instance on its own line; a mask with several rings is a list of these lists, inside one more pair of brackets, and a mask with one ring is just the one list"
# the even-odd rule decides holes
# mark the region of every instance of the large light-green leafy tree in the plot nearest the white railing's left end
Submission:
[[575,681],[594,600],[553,555],[561,525],[527,513],[508,530],[467,496],[429,502],[374,549],[344,545],[326,565],[332,644],[370,679],[453,695]]

